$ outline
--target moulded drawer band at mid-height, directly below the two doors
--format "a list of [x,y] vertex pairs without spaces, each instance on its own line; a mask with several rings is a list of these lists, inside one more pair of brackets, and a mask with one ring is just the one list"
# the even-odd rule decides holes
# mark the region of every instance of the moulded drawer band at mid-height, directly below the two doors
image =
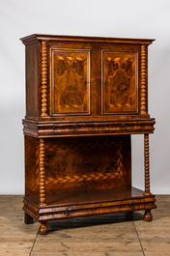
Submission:
[[33,124],[23,121],[25,135],[32,137],[154,133],[155,120],[131,122],[82,122]]

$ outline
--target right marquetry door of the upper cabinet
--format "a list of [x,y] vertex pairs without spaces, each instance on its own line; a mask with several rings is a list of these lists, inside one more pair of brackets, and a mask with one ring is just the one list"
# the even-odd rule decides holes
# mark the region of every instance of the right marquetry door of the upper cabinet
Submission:
[[102,114],[138,111],[137,53],[102,51]]

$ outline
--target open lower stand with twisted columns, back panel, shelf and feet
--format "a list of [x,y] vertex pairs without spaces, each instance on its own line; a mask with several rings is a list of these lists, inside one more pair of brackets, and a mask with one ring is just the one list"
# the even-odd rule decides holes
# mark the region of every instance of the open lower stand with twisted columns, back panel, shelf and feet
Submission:
[[149,135],[145,191],[131,186],[130,135],[37,139],[25,136],[25,223],[156,208],[150,192]]

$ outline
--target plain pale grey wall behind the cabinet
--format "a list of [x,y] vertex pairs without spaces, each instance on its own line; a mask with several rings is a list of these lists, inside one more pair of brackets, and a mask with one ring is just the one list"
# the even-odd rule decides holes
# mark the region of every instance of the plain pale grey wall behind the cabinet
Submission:
[[[0,0],[0,193],[24,193],[21,119],[25,114],[24,45],[38,33],[149,38],[149,113],[153,193],[170,193],[170,1]],[[143,188],[143,135],[132,136],[132,183]]]

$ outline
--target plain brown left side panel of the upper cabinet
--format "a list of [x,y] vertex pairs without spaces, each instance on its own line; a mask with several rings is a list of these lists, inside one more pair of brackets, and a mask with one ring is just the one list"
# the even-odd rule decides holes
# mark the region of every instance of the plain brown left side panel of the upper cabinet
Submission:
[[26,45],[26,116],[40,116],[39,43]]

